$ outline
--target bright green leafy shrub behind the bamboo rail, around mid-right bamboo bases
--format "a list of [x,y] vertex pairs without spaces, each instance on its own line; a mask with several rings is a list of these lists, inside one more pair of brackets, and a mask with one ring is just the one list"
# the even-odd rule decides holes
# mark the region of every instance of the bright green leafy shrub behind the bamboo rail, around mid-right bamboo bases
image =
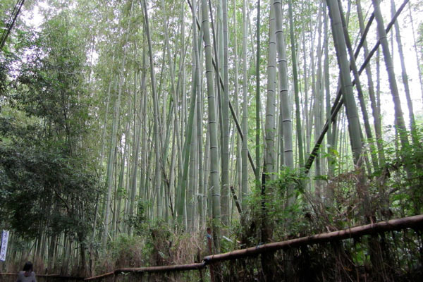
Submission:
[[[305,176],[288,167],[280,171],[276,180],[266,183],[265,195],[262,190],[253,191],[248,199],[251,207],[239,226],[233,232],[244,247],[266,243],[268,240],[283,240],[298,237],[309,232],[307,205],[303,197]],[[289,195],[292,190],[294,195]],[[290,197],[295,202],[288,205]],[[266,234],[266,230],[270,233]],[[266,238],[266,236],[271,238]],[[226,242],[226,245],[231,246]]]

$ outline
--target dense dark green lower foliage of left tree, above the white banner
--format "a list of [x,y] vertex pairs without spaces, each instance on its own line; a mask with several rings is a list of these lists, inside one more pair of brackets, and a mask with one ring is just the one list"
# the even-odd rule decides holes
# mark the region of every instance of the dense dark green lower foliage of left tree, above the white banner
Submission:
[[85,238],[98,189],[77,160],[51,148],[0,145],[0,171],[0,206],[19,235],[36,238],[44,227]]

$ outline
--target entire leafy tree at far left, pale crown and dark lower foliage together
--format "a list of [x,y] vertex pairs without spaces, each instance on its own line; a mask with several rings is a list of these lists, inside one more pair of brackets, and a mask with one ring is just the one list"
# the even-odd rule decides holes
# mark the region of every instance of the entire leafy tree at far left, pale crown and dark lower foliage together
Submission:
[[82,243],[100,192],[79,145],[90,128],[85,49],[64,12],[14,39],[0,64],[2,225],[25,238],[47,231]]

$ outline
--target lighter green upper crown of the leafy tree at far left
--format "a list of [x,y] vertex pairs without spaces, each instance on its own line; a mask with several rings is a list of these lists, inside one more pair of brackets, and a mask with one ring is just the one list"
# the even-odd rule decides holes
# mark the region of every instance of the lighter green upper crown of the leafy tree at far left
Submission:
[[44,25],[44,30],[31,40],[25,37],[20,40],[19,47],[27,55],[14,81],[17,91],[11,99],[28,116],[42,118],[48,125],[46,134],[66,140],[71,152],[74,139],[84,134],[87,130],[84,125],[90,123],[87,113],[90,100],[82,76],[86,58],[66,13]]

